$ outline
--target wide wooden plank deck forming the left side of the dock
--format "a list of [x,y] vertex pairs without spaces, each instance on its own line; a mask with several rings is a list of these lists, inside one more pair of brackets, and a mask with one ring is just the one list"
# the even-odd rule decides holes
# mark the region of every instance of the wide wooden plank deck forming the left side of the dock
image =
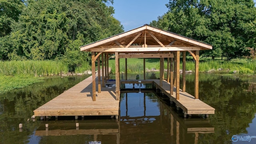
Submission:
[[[97,81],[96,81],[97,82]],[[98,86],[98,84],[96,84]],[[92,101],[92,76],[34,110],[34,116],[118,116],[116,89],[101,88]]]

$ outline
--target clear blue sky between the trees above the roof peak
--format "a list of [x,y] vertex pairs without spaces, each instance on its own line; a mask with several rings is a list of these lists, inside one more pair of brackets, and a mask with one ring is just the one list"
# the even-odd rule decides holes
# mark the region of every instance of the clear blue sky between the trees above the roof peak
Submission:
[[168,11],[165,6],[168,2],[169,0],[114,0],[114,4],[109,5],[114,7],[114,17],[124,26],[124,31],[128,31],[157,20],[158,16]]

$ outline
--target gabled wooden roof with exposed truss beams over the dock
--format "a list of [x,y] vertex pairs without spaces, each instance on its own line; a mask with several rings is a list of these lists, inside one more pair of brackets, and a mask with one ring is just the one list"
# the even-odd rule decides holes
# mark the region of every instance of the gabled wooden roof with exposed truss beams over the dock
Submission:
[[172,32],[144,25],[80,47],[88,52],[159,52],[211,50],[212,46]]

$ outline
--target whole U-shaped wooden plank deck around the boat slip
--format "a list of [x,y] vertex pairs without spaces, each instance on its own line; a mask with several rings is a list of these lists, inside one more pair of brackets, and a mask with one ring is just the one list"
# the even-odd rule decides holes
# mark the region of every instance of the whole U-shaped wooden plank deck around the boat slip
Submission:
[[[98,78],[98,77],[97,77]],[[214,114],[215,109],[194,96],[180,90],[180,99],[176,100],[176,87],[170,95],[170,83],[160,80],[140,80],[141,83],[152,83],[170,101],[184,110],[184,114]],[[98,81],[96,80],[96,83]],[[121,84],[136,84],[138,80],[121,80]],[[96,84],[98,86],[98,84]],[[50,100],[34,110],[34,116],[118,116],[119,100],[116,100],[116,88],[101,88],[101,93],[96,92],[96,101],[92,100],[92,76],[76,84],[69,90]],[[184,115],[185,116],[185,115]]]

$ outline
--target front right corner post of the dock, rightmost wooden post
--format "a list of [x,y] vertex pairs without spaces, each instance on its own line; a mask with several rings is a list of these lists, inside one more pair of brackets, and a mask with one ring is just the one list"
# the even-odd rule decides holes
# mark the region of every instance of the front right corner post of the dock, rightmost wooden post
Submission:
[[198,99],[198,89],[199,89],[199,50],[194,51],[196,55],[195,62],[195,98]]

